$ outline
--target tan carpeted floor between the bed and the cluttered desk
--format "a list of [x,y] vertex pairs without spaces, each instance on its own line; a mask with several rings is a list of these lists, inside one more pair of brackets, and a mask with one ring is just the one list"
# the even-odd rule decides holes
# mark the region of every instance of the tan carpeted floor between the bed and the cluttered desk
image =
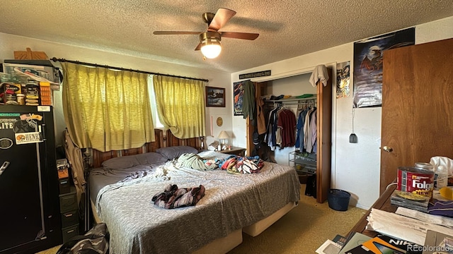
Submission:
[[[315,253],[327,239],[333,239],[337,234],[348,234],[366,212],[357,207],[349,207],[345,212],[332,210],[328,202],[320,204],[304,193],[305,185],[302,184],[301,200],[297,207],[259,236],[243,234],[243,243],[228,254]],[[58,248],[39,254],[55,254]]]

